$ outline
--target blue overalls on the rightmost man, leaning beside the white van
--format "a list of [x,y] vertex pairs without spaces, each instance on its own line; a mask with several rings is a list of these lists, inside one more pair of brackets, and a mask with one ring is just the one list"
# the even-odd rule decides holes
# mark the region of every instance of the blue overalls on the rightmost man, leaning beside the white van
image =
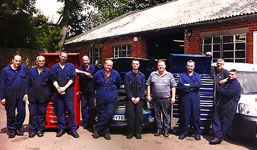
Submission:
[[241,97],[241,86],[237,79],[228,80],[222,86],[217,86],[216,92],[221,101],[218,102],[213,115],[213,136],[216,139],[223,139],[234,119]]

